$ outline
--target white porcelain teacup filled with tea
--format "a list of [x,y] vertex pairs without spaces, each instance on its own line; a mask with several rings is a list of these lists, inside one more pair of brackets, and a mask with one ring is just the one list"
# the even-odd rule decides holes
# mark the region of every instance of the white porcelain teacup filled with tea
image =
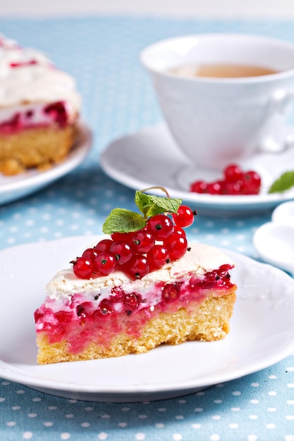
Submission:
[[[141,61],[173,137],[193,163],[223,168],[260,149],[285,146],[294,44],[255,35],[188,35],[148,46]],[[221,77],[228,75],[221,65],[270,73],[246,76],[241,70],[241,77]],[[216,76],[197,76],[195,68],[210,68],[204,75]]]

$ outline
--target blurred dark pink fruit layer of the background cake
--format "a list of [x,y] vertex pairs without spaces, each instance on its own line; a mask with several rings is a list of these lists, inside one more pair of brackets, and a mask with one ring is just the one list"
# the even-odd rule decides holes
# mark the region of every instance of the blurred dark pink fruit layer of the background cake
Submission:
[[56,101],[46,106],[36,105],[18,111],[0,122],[0,134],[12,135],[29,128],[47,127],[52,123],[59,128],[64,128],[68,124],[68,119],[66,103],[63,101]]

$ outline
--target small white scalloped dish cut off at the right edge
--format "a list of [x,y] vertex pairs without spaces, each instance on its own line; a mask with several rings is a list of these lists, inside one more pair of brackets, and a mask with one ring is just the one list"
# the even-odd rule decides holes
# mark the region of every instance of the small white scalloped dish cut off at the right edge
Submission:
[[294,201],[274,209],[271,222],[255,231],[253,244],[264,261],[294,275]]

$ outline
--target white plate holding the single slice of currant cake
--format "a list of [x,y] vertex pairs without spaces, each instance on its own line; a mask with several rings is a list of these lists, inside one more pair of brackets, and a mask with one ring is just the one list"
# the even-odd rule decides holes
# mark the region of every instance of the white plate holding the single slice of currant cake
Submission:
[[293,352],[294,280],[227,251],[236,263],[232,278],[238,283],[238,299],[231,333],[224,340],[37,366],[33,313],[44,300],[44,285],[97,240],[68,237],[0,251],[0,377],[61,397],[139,402],[196,392],[259,371]]

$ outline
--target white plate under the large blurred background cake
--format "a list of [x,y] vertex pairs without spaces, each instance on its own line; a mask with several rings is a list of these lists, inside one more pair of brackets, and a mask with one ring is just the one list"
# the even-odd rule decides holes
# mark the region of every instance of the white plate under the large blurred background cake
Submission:
[[90,151],[92,134],[85,123],[79,124],[79,137],[67,158],[49,170],[29,170],[16,176],[0,173],[0,205],[28,196],[78,167]]

